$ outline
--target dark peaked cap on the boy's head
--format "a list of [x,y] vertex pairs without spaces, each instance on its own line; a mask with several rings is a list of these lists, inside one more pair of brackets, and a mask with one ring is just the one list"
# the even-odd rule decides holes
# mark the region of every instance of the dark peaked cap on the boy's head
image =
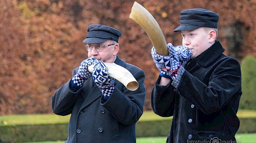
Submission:
[[186,9],[181,11],[181,25],[176,31],[194,30],[200,27],[218,27],[218,14],[201,8]]

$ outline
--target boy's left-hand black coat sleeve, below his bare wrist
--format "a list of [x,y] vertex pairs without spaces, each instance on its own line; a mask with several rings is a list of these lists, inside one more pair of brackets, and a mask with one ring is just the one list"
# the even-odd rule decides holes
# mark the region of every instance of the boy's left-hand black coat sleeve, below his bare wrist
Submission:
[[151,107],[159,116],[173,116],[175,94],[174,87],[169,83],[166,86],[159,85],[160,76],[158,77],[151,92]]

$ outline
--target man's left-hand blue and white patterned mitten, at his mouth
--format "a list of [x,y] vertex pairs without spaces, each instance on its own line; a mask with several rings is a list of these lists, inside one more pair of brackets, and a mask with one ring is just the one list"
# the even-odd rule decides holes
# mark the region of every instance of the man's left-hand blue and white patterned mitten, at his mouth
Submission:
[[95,58],[88,58],[81,62],[78,72],[71,79],[71,86],[75,89],[80,89],[83,86],[83,83],[90,78],[92,75],[88,70],[90,65],[96,64],[98,62]]

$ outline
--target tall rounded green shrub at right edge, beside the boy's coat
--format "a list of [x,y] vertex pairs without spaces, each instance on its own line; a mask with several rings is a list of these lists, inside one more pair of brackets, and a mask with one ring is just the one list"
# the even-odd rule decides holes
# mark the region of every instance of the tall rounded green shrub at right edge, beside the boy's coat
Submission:
[[256,109],[256,58],[246,56],[241,63],[242,96],[240,109]]

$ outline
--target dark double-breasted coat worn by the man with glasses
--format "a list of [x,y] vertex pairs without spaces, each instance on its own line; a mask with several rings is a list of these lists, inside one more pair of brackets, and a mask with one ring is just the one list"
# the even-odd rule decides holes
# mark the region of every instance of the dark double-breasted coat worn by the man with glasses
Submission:
[[134,75],[139,83],[136,91],[129,91],[115,80],[114,92],[105,102],[100,89],[90,78],[77,92],[70,90],[69,80],[53,95],[53,112],[61,116],[72,114],[67,143],[136,143],[135,126],[143,114],[146,95],[145,75],[143,70],[119,57],[115,63]]

